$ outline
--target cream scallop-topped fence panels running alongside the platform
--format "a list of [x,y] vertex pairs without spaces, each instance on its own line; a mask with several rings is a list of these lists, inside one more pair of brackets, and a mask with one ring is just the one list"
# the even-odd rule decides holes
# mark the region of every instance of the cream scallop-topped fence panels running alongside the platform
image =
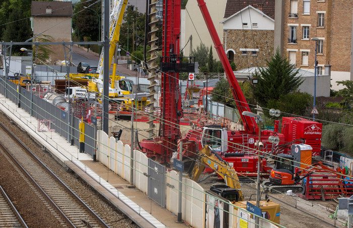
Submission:
[[[133,172],[132,185],[147,194],[161,207],[178,214],[179,172],[167,169],[160,164],[158,168],[155,168],[156,163],[139,150],[133,150],[133,167],[131,167],[131,157],[130,145],[109,137],[101,130],[97,131],[97,160],[127,181],[131,181],[130,174]],[[182,186],[182,219],[192,227],[213,227],[213,208],[216,197],[206,194],[207,189],[188,178],[183,178]],[[221,212],[220,222],[223,224],[221,227],[240,227],[237,224],[238,210],[236,208],[223,207],[219,211]],[[253,227],[254,223],[255,220],[251,219],[249,227]],[[277,227],[262,219],[260,219],[260,224],[261,227],[266,228]]]

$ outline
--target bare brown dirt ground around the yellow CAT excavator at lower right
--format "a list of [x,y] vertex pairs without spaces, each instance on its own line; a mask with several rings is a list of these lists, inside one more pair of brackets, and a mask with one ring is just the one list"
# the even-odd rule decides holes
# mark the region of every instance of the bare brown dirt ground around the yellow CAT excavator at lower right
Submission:
[[[202,175],[199,180],[202,180],[206,175]],[[247,183],[248,182],[248,183]],[[211,185],[224,184],[223,180],[218,180],[217,177],[211,177],[199,183],[205,189],[209,189]],[[256,184],[250,183],[249,180],[241,180],[241,187],[245,200],[256,200]],[[335,208],[338,205],[333,200],[318,201],[304,200],[298,196],[288,196],[285,194],[268,194],[270,200],[280,205],[280,225],[284,227],[334,227],[335,220],[331,219],[330,212],[327,207],[331,204]],[[261,195],[261,200],[265,200],[265,194]],[[297,205],[297,207],[296,207]],[[346,227],[342,225],[341,219],[336,220],[336,227]]]

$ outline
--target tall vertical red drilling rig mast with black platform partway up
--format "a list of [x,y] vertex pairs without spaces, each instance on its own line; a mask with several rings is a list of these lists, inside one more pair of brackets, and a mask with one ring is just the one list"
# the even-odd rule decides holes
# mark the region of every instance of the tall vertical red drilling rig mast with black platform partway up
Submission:
[[[142,140],[142,151],[161,163],[170,161],[177,150],[180,138],[180,118],[183,117],[179,72],[194,72],[192,58],[181,57],[180,23],[181,0],[163,1],[163,42],[162,42],[162,91],[161,120],[159,136],[153,140]],[[187,58],[187,61],[183,59]],[[186,62],[186,63],[185,63]]]

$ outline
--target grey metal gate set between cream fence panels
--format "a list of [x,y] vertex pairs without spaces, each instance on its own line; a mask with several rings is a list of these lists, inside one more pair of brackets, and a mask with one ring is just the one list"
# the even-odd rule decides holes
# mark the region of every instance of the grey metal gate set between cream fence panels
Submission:
[[148,159],[148,197],[165,207],[165,167]]

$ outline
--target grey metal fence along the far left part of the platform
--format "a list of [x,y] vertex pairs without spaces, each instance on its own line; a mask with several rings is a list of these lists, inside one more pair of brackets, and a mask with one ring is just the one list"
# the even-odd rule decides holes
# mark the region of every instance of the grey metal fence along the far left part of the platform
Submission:
[[[45,93],[44,90],[48,92],[50,91],[50,88],[38,88],[36,88],[36,90],[32,91],[31,93],[31,91],[18,86],[5,77],[0,77],[0,93],[6,95],[7,98],[18,104],[19,107],[23,108],[28,113],[32,112],[32,116],[37,118],[39,121],[50,120],[50,128],[52,130],[55,130],[55,132],[65,137],[66,139],[73,139],[74,145],[79,147],[79,124],[81,119],[74,117],[71,121],[71,115],[69,115],[68,111],[63,110],[62,108],[58,108],[42,99],[42,95]],[[31,102],[31,97],[33,103]],[[96,144],[94,141],[94,126],[85,123],[84,134],[84,152],[93,156],[93,151]]]

